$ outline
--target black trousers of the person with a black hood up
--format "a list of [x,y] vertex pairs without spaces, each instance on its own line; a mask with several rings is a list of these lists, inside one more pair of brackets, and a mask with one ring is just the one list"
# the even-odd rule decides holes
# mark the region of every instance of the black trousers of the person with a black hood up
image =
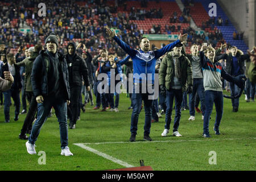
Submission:
[[77,118],[80,111],[79,99],[81,96],[81,86],[71,86],[70,88],[70,104],[68,106],[69,110],[69,121],[76,124]]

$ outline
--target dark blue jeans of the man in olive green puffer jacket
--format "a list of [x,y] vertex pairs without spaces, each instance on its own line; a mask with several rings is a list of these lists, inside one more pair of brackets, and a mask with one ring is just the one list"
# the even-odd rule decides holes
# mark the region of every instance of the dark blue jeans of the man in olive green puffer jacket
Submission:
[[181,117],[181,103],[183,100],[183,93],[182,90],[170,89],[167,91],[166,96],[166,125],[164,125],[164,129],[170,130],[171,124],[171,115],[172,115],[172,106],[174,104],[175,98],[175,118],[174,118],[174,129],[173,131],[177,131],[180,125],[180,117]]

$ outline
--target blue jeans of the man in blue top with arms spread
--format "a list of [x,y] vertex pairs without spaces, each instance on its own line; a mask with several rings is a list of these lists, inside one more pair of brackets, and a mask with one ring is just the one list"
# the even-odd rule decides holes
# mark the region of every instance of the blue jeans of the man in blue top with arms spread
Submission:
[[150,134],[153,100],[148,100],[148,96],[152,94],[148,92],[135,93],[135,86],[134,86],[133,96],[131,97],[131,99],[133,100],[133,113],[131,114],[131,128],[130,128],[131,134],[137,135],[137,130],[138,130],[137,126],[138,126],[138,120],[139,120],[139,113],[141,113],[142,100],[144,102],[144,110],[145,110],[144,135]]

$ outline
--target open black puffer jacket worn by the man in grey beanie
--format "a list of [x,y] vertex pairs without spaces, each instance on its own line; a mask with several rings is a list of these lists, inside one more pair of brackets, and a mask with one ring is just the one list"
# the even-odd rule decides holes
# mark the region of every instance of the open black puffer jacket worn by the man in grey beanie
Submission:
[[[57,52],[60,60],[60,72],[62,74],[60,77],[60,80],[63,80],[65,89],[63,90],[64,93],[64,99],[69,100],[70,98],[70,89],[69,89],[69,82],[68,82],[68,65],[67,61],[65,60],[65,56]],[[31,84],[34,96],[48,96],[49,89],[48,89],[48,78],[47,78],[47,61],[48,55],[46,51],[41,51],[38,57],[36,57],[33,67],[32,67],[32,73],[31,73]]]

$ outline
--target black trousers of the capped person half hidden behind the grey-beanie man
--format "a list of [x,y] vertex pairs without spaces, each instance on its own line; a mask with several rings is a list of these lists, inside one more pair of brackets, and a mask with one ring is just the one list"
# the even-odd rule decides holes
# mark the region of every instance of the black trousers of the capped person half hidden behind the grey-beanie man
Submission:
[[20,134],[22,135],[26,134],[26,131],[32,128],[32,122],[35,119],[36,111],[38,111],[38,102],[36,102],[36,97],[33,92],[26,92],[26,96],[28,102],[30,102],[30,107],[24,120],[22,130],[20,131]]

